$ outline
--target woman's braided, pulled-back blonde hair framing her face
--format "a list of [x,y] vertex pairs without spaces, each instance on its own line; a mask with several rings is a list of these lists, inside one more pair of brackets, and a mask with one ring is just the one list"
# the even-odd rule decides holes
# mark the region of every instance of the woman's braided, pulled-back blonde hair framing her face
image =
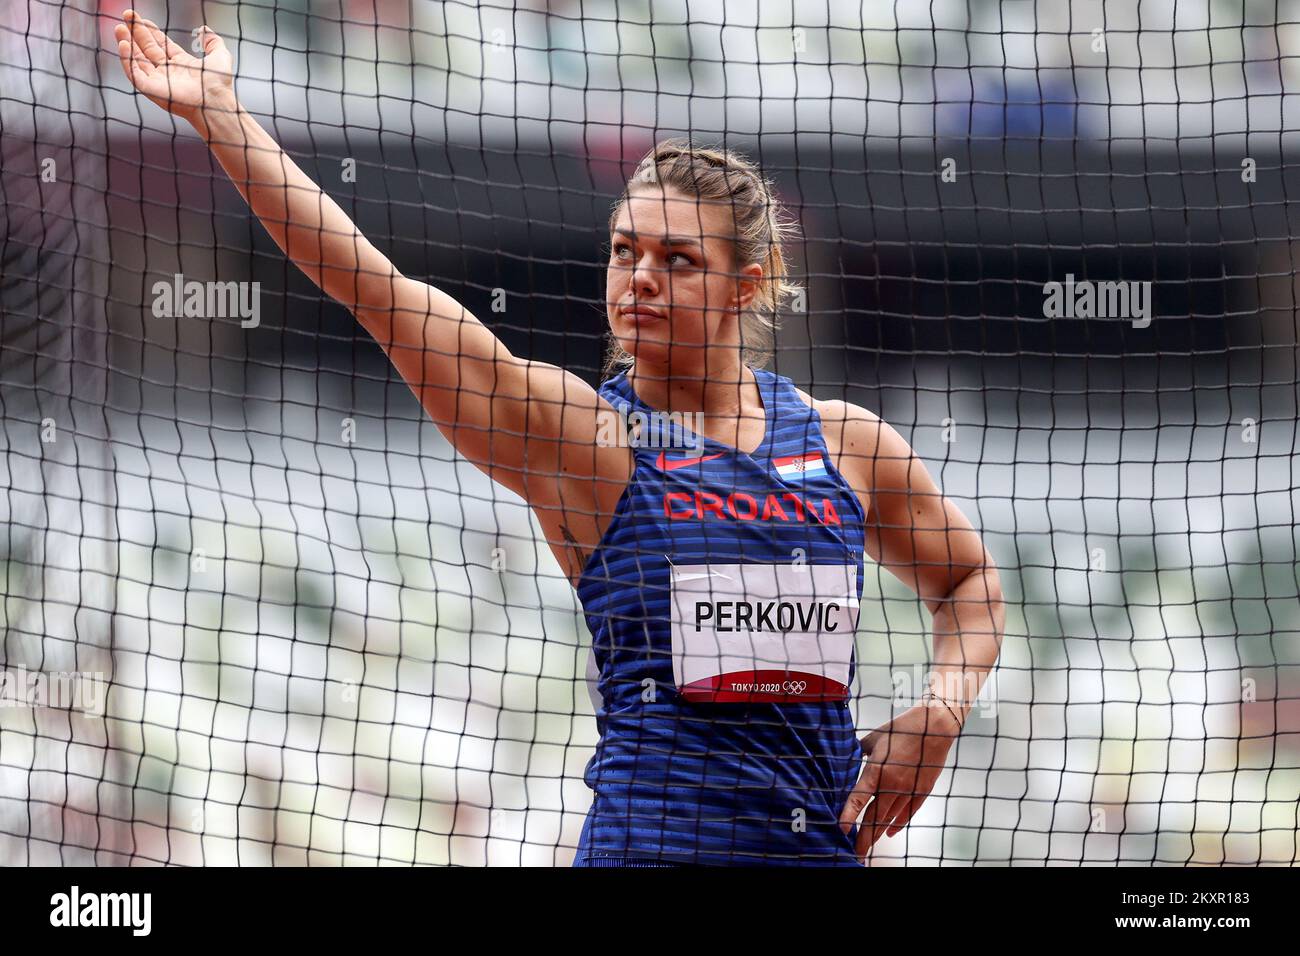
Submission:
[[[666,139],[647,152],[610,212],[610,232],[619,213],[642,186],[675,189],[706,202],[727,203],[736,230],[732,238],[737,269],[763,267],[758,291],[741,313],[741,360],[762,367],[776,347],[777,315],[785,300],[800,293],[800,285],[786,274],[785,243],[798,235],[797,224],[763,178],[759,168],[733,150],[693,146],[682,139]],[[604,375],[632,365],[633,356],[610,333]]]

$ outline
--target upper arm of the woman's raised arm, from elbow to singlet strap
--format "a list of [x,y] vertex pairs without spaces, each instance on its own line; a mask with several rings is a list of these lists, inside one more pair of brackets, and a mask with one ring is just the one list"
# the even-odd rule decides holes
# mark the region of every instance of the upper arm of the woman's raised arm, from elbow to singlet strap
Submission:
[[393,281],[393,308],[358,317],[460,455],[530,505],[556,503],[572,479],[625,483],[630,454],[597,442],[615,412],[590,385],[515,356],[442,290]]

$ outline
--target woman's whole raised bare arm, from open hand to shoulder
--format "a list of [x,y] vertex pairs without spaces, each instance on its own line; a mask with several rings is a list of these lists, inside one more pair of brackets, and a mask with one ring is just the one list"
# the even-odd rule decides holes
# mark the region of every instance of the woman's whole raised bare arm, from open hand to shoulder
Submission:
[[198,57],[134,10],[122,20],[131,83],[195,127],[276,243],[358,317],[462,455],[532,505],[581,499],[581,479],[625,480],[627,449],[595,442],[608,405],[577,376],[516,358],[459,302],[399,273],[239,104],[217,34],[203,27]]

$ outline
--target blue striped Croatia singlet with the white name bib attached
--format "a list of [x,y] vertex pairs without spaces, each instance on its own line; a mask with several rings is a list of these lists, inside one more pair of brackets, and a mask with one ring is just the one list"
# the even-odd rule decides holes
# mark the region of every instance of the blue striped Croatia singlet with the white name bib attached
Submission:
[[838,826],[862,748],[849,708],[864,515],[822,420],[754,369],[751,453],[601,386],[634,471],[578,580],[599,671],[593,860],[857,865]]

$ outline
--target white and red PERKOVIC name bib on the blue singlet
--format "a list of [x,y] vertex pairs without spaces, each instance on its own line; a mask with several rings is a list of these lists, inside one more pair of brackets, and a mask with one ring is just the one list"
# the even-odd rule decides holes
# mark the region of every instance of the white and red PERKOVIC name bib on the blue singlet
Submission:
[[689,701],[845,700],[853,564],[673,564],[672,674]]

